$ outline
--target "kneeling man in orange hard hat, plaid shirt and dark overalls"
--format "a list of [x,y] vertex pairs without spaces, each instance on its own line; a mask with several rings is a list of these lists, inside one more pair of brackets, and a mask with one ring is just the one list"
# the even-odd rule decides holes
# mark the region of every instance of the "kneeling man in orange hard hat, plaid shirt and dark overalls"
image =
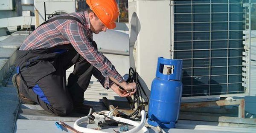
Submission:
[[[116,27],[119,15],[116,1],[86,2],[90,9],[49,19],[20,46],[13,83],[22,102],[36,102],[57,116],[67,116],[72,110],[87,114],[92,107],[83,104],[84,91],[92,74],[105,89],[111,88],[119,96],[136,92],[136,84],[124,82],[92,40],[92,33]],[[73,64],[74,71],[66,85],[66,70]]]

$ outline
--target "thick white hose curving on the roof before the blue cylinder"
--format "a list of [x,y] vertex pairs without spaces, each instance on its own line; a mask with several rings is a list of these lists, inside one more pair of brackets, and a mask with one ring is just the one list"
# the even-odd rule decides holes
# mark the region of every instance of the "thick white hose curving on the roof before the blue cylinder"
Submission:
[[[121,118],[121,117],[116,117],[116,116],[108,116],[108,117],[110,117],[111,119],[114,119],[116,121],[127,123],[129,125],[135,126],[133,129],[128,130],[124,133],[138,133],[140,130],[142,130],[143,133],[149,133],[148,129],[146,127],[144,127],[145,122],[146,122],[145,110],[141,111],[141,121],[140,121],[140,123],[134,122],[134,121],[129,120],[129,119],[124,119],[124,118]],[[84,116],[84,117],[81,117],[78,120],[76,120],[76,122],[74,124],[74,128],[76,130],[78,130],[79,132],[83,132],[83,133],[108,133],[108,132],[103,132],[103,131],[99,131],[99,130],[89,129],[89,128],[86,128],[86,127],[80,127],[79,124],[82,123],[82,122],[86,122],[87,119],[88,119],[87,116]]]

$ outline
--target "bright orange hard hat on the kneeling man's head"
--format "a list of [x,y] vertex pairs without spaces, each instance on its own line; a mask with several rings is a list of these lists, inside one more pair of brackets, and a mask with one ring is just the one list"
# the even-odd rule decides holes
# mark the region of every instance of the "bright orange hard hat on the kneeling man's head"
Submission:
[[86,0],[86,3],[108,29],[116,28],[119,15],[116,0]]

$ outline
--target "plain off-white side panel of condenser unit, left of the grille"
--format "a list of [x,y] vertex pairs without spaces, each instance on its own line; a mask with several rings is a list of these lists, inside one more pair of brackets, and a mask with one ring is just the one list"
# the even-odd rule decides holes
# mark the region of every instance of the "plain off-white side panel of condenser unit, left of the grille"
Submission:
[[148,88],[155,77],[157,57],[170,59],[170,0],[129,0],[131,66],[134,65],[134,44],[137,72]]

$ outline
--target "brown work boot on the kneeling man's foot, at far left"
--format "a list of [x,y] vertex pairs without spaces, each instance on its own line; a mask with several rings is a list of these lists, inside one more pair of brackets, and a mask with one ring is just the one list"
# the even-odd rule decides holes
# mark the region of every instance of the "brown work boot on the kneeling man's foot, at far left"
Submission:
[[20,99],[21,102],[25,104],[35,105],[36,102],[28,99],[26,96],[23,95],[23,93],[20,92],[20,76],[18,74],[14,74],[12,77],[12,83],[16,88],[17,96]]

